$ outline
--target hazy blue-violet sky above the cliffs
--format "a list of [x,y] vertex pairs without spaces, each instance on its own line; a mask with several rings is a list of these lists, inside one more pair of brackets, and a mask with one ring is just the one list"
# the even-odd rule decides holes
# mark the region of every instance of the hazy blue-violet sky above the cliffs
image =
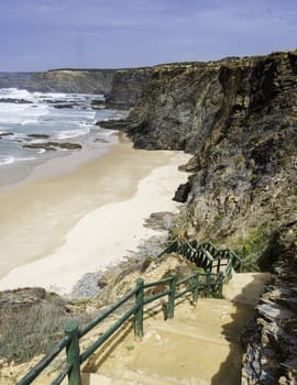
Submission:
[[297,47],[297,0],[0,0],[0,70],[121,68]]

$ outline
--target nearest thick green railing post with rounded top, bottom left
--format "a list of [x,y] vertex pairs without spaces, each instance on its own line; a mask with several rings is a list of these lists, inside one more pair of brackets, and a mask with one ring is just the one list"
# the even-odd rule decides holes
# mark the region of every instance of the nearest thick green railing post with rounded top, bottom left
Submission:
[[72,365],[72,370],[68,373],[68,382],[69,385],[81,385],[78,326],[76,321],[70,320],[66,323],[65,334],[70,338],[70,342],[66,348],[67,363]]

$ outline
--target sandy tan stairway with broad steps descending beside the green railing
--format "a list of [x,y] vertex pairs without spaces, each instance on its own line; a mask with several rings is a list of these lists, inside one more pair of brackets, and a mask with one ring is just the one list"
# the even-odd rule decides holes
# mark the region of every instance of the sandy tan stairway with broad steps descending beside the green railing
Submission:
[[144,338],[128,333],[109,352],[99,351],[84,367],[84,385],[239,385],[240,330],[263,293],[265,273],[238,273],[224,285],[226,299],[183,299],[174,319],[146,312]]

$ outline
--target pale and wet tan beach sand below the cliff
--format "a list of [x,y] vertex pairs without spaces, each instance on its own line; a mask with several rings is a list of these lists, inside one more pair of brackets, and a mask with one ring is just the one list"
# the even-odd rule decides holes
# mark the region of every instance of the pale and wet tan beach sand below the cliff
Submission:
[[[123,140],[67,174],[1,193],[0,290],[42,286],[67,294],[85,273],[119,262],[157,233],[143,227],[145,218],[177,209],[172,198],[187,179],[177,167],[188,158],[133,150]],[[58,162],[41,167],[58,172]]]

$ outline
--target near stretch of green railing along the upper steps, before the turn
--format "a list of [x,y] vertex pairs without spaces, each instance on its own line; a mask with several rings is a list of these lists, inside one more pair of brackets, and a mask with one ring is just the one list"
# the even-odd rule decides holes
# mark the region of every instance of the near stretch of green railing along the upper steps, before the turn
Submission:
[[[51,385],[59,385],[63,380],[68,376],[68,384],[81,385],[81,364],[95,353],[111,336],[118,331],[125,321],[133,317],[134,334],[136,338],[143,337],[143,312],[144,306],[151,304],[162,297],[167,297],[166,318],[174,317],[176,299],[185,296],[188,293],[193,294],[193,304],[197,304],[199,296],[209,297],[211,294],[222,297],[223,276],[211,274],[211,272],[200,273],[195,271],[190,276],[177,280],[176,273],[172,273],[168,278],[145,284],[142,278],[136,279],[135,287],[127,293],[116,304],[105,310],[92,321],[79,328],[77,322],[72,320],[66,323],[65,337],[56,344],[53,351],[41,360],[21,381],[18,385],[31,384],[64,350],[66,352],[66,362],[64,369],[58,376],[52,381]],[[151,294],[152,288],[162,288],[156,294]],[[133,305],[122,315],[103,334],[101,334],[86,350],[80,352],[79,340],[91,331],[96,326],[107,319],[108,316],[114,314],[123,304],[131,301],[134,298]]]

